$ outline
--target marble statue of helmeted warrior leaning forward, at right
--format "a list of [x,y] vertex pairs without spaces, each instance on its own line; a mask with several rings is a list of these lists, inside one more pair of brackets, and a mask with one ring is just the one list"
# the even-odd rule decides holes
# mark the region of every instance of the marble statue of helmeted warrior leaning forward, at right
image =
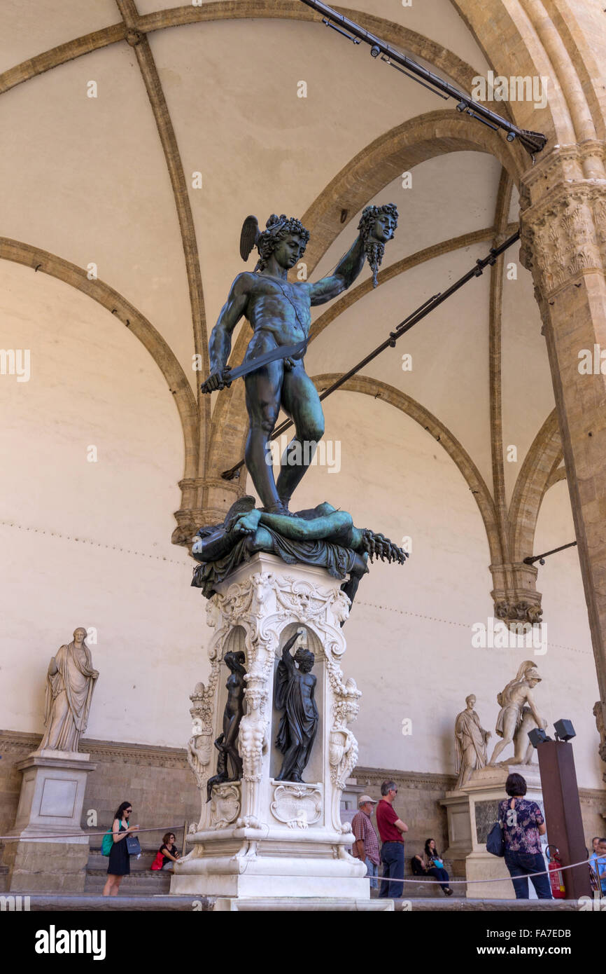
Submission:
[[533,728],[546,728],[547,721],[537,710],[534,694],[538,683],[541,683],[539,672],[532,659],[525,659],[520,664],[514,680],[510,680],[502,693],[497,693],[497,703],[501,710],[497,717],[496,732],[503,739],[498,742],[490,764],[496,759],[508,744],[514,742],[515,753],[508,765],[529,765],[534,748],[528,740],[528,731]]

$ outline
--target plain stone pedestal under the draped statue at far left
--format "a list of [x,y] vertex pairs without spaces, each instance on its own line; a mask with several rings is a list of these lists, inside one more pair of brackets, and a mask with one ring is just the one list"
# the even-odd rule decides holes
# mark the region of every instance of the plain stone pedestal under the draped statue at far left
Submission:
[[[80,827],[89,754],[34,751],[17,767],[23,773],[17,818],[7,842],[11,892],[82,893],[89,837]],[[69,835],[69,838],[62,838]]]

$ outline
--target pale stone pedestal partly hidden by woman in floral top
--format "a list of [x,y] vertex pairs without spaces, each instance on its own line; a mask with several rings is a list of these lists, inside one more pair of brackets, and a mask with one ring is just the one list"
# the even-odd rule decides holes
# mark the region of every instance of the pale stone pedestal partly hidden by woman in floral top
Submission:
[[[514,900],[516,892],[505,860],[486,851],[487,834],[497,820],[498,805],[507,798],[505,782],[509,774],[521,774],[528,786],[526,798],[543,808],[543,793],[538,765],[488,765],[474,771],[472,777],[462,788],[446,792],[448,815],[448,838],[450,848],[445,855],[452,858],[453,839],[455,849],[463,852],[466,843],[469,850],[465,856],[465,875],[468,880],[468,899]],[[456,856],[455,856],[456,857]],[[460,856],[458,856],[460,857]],[[470,883],[470,880],[500,880],[494,882]],[[536,899],[532,883],[529,883],[530,899]]]

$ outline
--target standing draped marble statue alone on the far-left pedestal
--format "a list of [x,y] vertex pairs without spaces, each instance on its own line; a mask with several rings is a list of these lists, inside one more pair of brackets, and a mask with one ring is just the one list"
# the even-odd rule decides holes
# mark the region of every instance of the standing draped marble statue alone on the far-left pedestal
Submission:
[[90,700],[99,674],[92,668],[86,636],[86,629],[76,629],[73,641],[61,646],[49,665],[44,718],[47,731],[41,750],[77,751],[80,736],[87,730]]

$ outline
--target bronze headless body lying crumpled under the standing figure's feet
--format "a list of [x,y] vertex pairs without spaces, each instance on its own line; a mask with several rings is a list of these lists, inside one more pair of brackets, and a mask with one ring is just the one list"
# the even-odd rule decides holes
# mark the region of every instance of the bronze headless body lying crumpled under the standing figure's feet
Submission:
[[287,564],[319,565],[341,585],[353,602],[358,584],[368,572],[369,556],[404,564],[405,551],[381,534],[356,528],[351,514],[324,503],[295,514],[267,513],[250,496],[239,498],[223,524],[200,528],[192,554],[201,562],[193,585],[207,597],[236,565],[256,551],[267,551]]

